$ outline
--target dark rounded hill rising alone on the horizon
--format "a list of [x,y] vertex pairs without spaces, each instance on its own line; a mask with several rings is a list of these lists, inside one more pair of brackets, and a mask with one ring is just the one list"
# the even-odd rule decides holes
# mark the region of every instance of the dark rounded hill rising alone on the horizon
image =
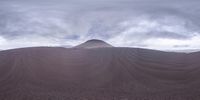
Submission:
[[80,45],[75,46],[75,48],[105,48],[105,47],[113,47],[113,46],[98,39],[91,39]]

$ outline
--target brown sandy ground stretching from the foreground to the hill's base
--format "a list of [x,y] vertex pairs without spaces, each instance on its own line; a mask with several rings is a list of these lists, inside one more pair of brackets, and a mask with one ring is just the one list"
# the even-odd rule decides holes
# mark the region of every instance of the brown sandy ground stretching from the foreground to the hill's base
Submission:
[[200,100],[199,60],[116,47],[0,51],[0,100]]

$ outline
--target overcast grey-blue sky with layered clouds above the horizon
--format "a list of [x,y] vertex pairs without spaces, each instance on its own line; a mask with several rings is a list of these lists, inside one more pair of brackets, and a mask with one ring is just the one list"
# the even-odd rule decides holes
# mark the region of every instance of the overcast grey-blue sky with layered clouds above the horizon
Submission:
[[199,0],[0,0],[0,49],[71,47],[90,39],[158,50],[200,49]]

